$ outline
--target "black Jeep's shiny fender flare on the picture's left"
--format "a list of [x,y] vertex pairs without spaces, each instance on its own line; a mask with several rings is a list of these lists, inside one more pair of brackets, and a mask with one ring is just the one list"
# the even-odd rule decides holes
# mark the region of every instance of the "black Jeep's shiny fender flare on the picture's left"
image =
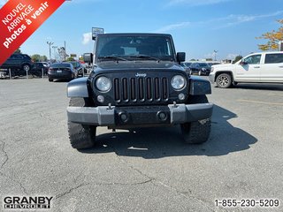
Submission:
[[67,96],[68,97],[84,97],[88,95],[88,78],[73,79],[67,85]]

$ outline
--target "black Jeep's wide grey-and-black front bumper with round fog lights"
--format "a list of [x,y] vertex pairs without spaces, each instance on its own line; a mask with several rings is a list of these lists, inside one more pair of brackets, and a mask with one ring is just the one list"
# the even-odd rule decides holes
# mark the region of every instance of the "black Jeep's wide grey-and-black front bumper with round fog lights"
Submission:
[[212,103],[137,107],[68,107],[68,121],[82,125],[176,125],[210,118]]

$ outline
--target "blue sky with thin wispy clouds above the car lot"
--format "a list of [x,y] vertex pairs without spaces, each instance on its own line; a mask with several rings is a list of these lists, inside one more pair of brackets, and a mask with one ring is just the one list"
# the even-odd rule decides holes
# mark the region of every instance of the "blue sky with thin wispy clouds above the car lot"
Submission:
[[[0,0],[0,7],[6,1]],[[258,40],[283,19],[282,0],[72,0],[65,2],[21,46],[49,57],[49,45],[78,56],[92,52],[92,27],[105,33],[172,34],[187,60],[233,59],[258,52]],[[56,55],[52,49],[52,56]],[[217,51],[217,53],[215,53]]]

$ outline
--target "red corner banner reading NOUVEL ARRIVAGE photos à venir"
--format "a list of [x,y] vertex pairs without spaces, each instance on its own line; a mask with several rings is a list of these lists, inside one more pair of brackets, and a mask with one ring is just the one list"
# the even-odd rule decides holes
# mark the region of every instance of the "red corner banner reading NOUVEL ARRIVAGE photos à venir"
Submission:
[[10,0],[0,9],[0,65],[65,0]]

